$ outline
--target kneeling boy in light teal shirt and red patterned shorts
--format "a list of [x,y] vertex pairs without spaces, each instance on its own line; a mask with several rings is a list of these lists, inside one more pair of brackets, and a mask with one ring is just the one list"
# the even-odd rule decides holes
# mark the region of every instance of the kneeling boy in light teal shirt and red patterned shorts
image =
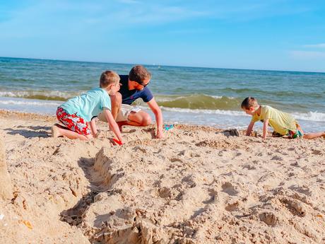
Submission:
[[103,72],[100,76],[100,87],[70,98],[57,108],[57,119],[64,126],[54,124],[52,136],[66,136],[69,139],[81,140],[96,137],[96,124],[92,118],[103,112],[112,131],[122,144],[121,132],[111,113],[110,95],[114,95],[117,91],[119,91],[119,75],[114,71]]

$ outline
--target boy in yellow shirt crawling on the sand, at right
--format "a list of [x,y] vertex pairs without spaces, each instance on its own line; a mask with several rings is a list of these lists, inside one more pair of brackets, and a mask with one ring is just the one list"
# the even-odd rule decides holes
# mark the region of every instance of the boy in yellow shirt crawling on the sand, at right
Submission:
[[247,128],[247,136],[251,134],[255,122],[261,120],[263,122],[263,139],[266,139],[268,125],[273,127],[274,132],[281,136],[286,135],[289,138],[303,137],[305,139],[314,139],[321,136],[325,138],[325,132],[304,134],[293,116],[267,105],[259,105],[255,98],[245,98],[242,101],[242,110],[247,115],[252,115],[252,120]]

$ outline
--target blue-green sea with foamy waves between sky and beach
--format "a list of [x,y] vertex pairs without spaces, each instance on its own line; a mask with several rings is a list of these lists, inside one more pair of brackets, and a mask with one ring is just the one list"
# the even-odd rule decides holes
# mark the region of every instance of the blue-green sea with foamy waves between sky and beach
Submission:
[[[98,86],[102,71],[128,74],[132,66],[0,57],[0,109],[55,115],[64,100]],[[325,73],[145,66],[168,124],[243,129],[250,117],[240,104],[253,96],[290,112],[305,132],[325,131]],[[150,111],[146,103],[137,104]]]

